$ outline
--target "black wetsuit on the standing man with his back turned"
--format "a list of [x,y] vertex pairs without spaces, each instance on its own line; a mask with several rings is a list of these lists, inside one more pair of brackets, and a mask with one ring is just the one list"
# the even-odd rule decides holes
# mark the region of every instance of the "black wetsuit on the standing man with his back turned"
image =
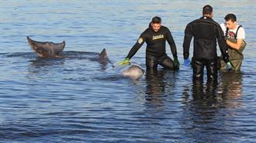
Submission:
[[183,43],[184,59],[189,58],[189,46],[194,37],[194,52],[192,57],[192,69],[194,79],[202,80],[203,68],[206,66],[208,80],[217,79],[217,53],[216,39],[223,55],[223,60],[228,62],[227,44],[220,25],[213,19],[203,16],[190,22],[185,28]]

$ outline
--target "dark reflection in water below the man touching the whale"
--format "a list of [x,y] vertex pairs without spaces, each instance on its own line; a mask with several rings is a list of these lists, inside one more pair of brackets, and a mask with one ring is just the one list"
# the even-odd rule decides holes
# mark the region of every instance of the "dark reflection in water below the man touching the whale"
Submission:
[[154,107],[157,111],[164,110],[168,97],[175,90],[175,74],[171,70],[147,70],[144,78],[137,81],[134,88],[144,100],[146,108]]

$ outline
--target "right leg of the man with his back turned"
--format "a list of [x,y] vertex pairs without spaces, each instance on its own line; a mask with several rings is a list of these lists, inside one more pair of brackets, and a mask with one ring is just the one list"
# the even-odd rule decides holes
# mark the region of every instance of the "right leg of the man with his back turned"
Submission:
[[206,61],[206,70],[207,70],[207,80],[216,81],[217,80],[217,61]]

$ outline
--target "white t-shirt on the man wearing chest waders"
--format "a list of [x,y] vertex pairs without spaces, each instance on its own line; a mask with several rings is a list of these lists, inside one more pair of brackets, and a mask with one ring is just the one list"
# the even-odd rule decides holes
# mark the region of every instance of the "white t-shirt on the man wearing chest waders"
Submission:
[[[228,36],[229,36],[230,38],[233,38],[233,39],[234,39],[234,35],[235,35],[236,32],[237,32],[238,26],[239,26],[239,25],[237,25],[236,29],[229,29],[229,30],[228,30]],[[227,30],[227,26],[226,26],[224,23],[222,23],[222,24],[220,24],[220,27],[221,27],[221,29],[223,30],[223,33],[224,33],[224,35],[225,35],[226,30]],[[244,28],[243,28],[243,27],[240,27],[240,28],[238,29],[238,32],[237,32],[237,39],[245,39],[245,32],[244,32]]]

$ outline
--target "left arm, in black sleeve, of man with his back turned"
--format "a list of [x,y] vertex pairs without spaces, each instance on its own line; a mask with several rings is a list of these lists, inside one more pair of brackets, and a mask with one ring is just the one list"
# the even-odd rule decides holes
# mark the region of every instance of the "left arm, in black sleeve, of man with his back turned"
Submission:
[[192,40],[192,25],[185,27],[185,36],[183,41],[183,57],[185,60],[189,58],[189,47]]

